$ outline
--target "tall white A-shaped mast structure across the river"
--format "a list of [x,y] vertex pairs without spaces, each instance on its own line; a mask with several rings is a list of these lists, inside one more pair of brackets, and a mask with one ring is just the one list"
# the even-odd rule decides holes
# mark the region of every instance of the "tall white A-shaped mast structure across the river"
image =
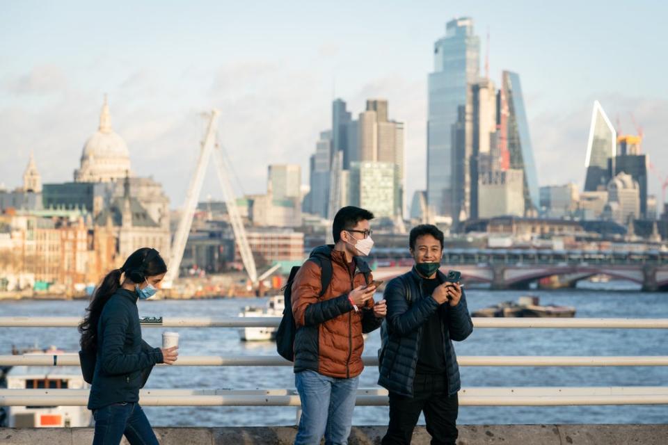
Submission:
[[207,127],[207,133],[201,143],[200,157],[197,161],[197,168],[195,170],[195,175],[193,175],[188,187],[188,194],[186,195],[183,214],[181,216],[181,220],[179,221],[179,227],[177,228],[174,241],[172,243],[172,252],[169,258],[167,274],[163,280],[162,286],[166,289],[169,289],[172,286],[174,280],[176,280],[176,278],[179,276],[179,269],[183,259],[183,252],[186,248],[188,234],[190,233],[190,229],[193,224],[193,216],[195,215],[197,200],[200,197],[200,193],[202,191],[202,184],[204,183],[207,165],[209,165],[209,159],[211,158],[212,154],[216,155],[214,156],[214,162],[216,164],[218,179],[221,183],[221,188],[223,189],[225,207],[228,209],[228,215],[230,216],[230,223],[232,224],[234,238],[237,241],[239,252],[241,253],[241,261],[244,263],[244,267],[246,268],[246,273],[248,273],[250,281],[253,283],[253,286],[256,286],[260,280],[264,280],[264,277],[272,273],[273,270],[276,270],[275,268],[273,270],[270,269],[271,272],[267,271],[267,273],[264,273],[260,279],[257,277],[253,252],[250,251],[248,238],[246,238],[246,230],[244,229],[244,224],[241,222],[239,209],[237,209],[237,202],[234,199],[234,192],[232,191],[232,184],[230,183],[230,175],[228,174],[230,170],[228,169],[228,165],[225,163],[225,159],[223,158],[222,149],[218,147],[218,144],[216,143],[216,129],[218,126],[217,120],[219,114],[220,112],[218,110],[212,111],[209,125]]

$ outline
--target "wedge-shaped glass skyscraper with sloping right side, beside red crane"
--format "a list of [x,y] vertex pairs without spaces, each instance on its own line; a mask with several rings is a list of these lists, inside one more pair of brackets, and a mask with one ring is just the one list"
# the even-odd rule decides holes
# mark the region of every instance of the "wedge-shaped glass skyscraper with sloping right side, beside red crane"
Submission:
[[540,209],[540,191],[520,76],[514,72],[504,71],[502,82],[503,96],[508,107],[507,145],[510,153],[510,168],[524,172],[525,212],[538,211]]

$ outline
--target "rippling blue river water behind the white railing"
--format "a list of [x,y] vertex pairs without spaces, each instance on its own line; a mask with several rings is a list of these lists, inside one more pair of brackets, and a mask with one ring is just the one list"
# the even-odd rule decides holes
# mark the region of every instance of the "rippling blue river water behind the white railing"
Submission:
[[[586,289],[588,288],[588,289]],[[542,303],[577,308],[578,317],[668,318],[668,294],[642,293],[626,283],[584,284],[564,291],[532,290]],[[470,310],[505,300],[523,291],[468,289]],[[244,305],[264,305],[266,299],[167,300],[139,302],[142,316],[236,316]],[[3,301],[0,316],[81,316],[85,301]],[[145,327],[143,337],[159,346],[162,328]],[[182,355],[273,355],[271,342],[244,343],[233,328],[184,328]],[[668,355],[666,330],[476,329],[461,343],[458,355]],[[74,328],[0,327],[0,353],[13,344],[41,347],[56,344],[76,351]],[[375,355],[379,332],[369,334],[365,355]],[[462,367],[464,387],[535,386],[667,386],[665,367]],[[363,371],[360,387],[376,387],[378,370]],[[281,367],[162,366],[154,369],[147,388],[278,389],[294,388],[294,374]],[[146,407],[154,426],[260,426],[294,424],[294,407]],[[356,407],[353,424],[383,425],[388,407]],[[667,405],[593,407],[461,407],[459,423],[665,423]],[[424,419],[420,419],[424,423]]]

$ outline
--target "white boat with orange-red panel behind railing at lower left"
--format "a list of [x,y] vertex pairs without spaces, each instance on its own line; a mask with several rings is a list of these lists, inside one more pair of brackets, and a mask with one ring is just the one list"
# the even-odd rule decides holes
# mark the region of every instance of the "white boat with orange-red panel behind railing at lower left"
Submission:
[[[26,355],[62,353],[51,349]],[[6,373],[7,389],[87,389],[79,366],[13,366]],[[8,406],[9,428],[90,426],[93,416],[85,406]]]

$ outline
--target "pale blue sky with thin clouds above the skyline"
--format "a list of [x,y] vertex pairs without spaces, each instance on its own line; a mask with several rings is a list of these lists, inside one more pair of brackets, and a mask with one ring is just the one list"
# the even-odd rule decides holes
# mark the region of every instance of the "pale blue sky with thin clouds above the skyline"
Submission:
[[[406,127],[406,199],[426,186],[427,76],[454,17],[472,17],[490,77],[520,74],[541,186],[584,182],[598,99],[644,133],[660,196],[668,175],[668,3],[658,1],[0,2],[0,184],[34,152],[42,181],[71,181],[104,95],[136,175],[181,207],[218,108],[236,193],[264,193],[267,165],[308,158],[331,101],[357,115],[389,101]],[[489,44],[486,35],[489,33]],[[633,118],[632,118],[633,115]],[[209,168],[202,200],[222,193]]]

